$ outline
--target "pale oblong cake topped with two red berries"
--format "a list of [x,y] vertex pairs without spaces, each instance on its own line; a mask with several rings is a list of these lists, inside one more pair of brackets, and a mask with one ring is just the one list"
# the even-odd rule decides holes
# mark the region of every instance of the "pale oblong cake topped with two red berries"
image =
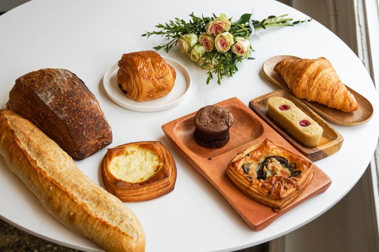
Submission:
[[267,103],[268,115],[305,146],[314,147],[320,142],[323,128],[292,101],[273,96]]

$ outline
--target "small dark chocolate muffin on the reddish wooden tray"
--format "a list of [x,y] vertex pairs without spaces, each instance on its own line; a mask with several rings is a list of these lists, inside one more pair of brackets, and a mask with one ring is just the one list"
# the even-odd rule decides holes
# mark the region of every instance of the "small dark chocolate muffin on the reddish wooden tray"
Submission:
[[197,143],[207,148],[220,148],[229,141],[229,128],[233,124],[232,114],[223,107],[209,105],[197,111],[193,120]]

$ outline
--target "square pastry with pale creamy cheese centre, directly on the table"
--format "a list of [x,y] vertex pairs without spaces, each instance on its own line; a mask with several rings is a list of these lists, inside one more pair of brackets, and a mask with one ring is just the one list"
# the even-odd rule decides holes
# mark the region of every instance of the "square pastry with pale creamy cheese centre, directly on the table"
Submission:
[[101,175],[105,188],[121,201],[145,201],[174,189],[176,165],[161,142],[134,142],[108,149]]

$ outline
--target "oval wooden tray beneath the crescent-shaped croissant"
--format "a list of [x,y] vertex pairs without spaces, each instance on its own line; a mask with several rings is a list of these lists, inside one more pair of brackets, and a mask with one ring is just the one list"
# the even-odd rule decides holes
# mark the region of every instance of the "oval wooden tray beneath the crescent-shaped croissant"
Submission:
[[[284,82],[280,74],[274,71],[274,66],[276,65],[276,63],[283,59],[299,60],[301,58],[291,55],[274,56],[265,61],[265,63],[262,66],[262,70],[265,73],[267,79],[276,84],[278,87],[292,94],[292,91],[288,88],[287,84]],[[303,103],[305,103],[308,107],[312,108],[314,111],[319,113],[321,116],[339,125],[354,126],[368,122],[374,115],[373,105],[364,96],[360,95],[359,93],[355,92],[347,86],[346,88],[348,91],[350,91],[352,95],[354,95],[355,99],[358,102],[358,110],[356,111],[343,112],[339,109],[329,108],[328,106],[325,106],[318,102],[307,101],[305,99],[301,100],[303,101]]]

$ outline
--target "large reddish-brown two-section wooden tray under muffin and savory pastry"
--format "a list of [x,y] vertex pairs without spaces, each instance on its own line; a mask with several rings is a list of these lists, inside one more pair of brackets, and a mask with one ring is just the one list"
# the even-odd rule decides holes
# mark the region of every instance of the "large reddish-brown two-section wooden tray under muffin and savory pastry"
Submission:
[[272,221],[296,207],[304,200],[324,192],[332,180],[320,168],[313,164],[314,178],[303,192],[287,207],[275,213],[240,192],[226,175],[227,163],[248,146],[270,139],[305,159],[295,147],[268,126],[248,106],[237,98],[230,98],[215,105],[227,108],[234,117],[230,127],[230,140],[226,146],[208,149],[199,146],[193,139],[193,117],[196,112],[178,118],[162,126],[164,133],[174,143],[179,153],[220,193],[238,212],[244,221],[254,230],[262,230]]

